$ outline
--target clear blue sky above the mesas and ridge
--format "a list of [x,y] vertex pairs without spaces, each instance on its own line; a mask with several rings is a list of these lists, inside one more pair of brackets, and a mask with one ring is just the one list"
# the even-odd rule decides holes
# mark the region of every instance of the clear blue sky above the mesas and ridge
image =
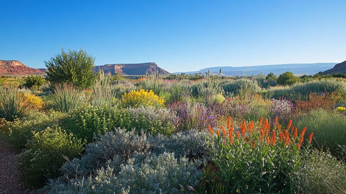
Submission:
[[4,1],[0,59],[44,67],[60,48],[96,65],[170,71],[346,60],[346,1]]

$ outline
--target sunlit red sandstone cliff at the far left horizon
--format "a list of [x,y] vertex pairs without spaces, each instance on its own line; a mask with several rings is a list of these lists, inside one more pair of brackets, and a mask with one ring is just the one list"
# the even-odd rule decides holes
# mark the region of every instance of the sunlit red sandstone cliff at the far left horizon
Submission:
[[28,67],[16,60],[0,60],[0,75],[44,75],[45,73]]

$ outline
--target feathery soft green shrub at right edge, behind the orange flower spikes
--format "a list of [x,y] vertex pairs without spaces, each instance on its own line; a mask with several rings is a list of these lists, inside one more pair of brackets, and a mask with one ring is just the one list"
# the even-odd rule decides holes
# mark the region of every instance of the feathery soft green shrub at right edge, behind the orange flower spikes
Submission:
[[299,115],[295,123],[298,128],[306,126],[307,135],[313,132],[312,145],[316,148],[328,148],[337,156],[337,145],[346,145],[346,116],[318,109]]

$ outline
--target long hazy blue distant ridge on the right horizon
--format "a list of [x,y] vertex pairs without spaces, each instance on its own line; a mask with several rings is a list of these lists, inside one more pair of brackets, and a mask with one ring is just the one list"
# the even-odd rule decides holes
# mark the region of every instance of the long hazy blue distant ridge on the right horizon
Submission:
[[231,66],[222,66],[222,67],[210,67],[204,68],[199,71],[189,71],[189,72],[174,72],[173,74],[194,74],[202,73],[210,70],[212,74],[219,74],[221,68],[222,75],[242,76],[244,72],[247,75],[257,75],[260,72],[267,75],[270,72],[273,72],[275,75],[280,75],[286,71],[291,71],[293,74],[297,75],[315,75],[319,71],[325,71],[332,68],[336,63],[311,63],[311,64],[279,64],[279,65],[259,65],[259,66],[243,66],[243,67],[231,67]]

